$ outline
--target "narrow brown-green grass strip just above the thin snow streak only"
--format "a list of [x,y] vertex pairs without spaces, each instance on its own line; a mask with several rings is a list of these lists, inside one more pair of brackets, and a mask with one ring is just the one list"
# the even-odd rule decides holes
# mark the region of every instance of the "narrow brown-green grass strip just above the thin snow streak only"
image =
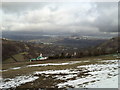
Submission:
[[84,61],[84,60],[90,60],[90,61],[95,61],[98,59],[103,59],[103,60],[112,60],[116,59],[114,56],[96,56],[96,57],[83,57],[83,58],[71,58],[71,59],[54,59],[54,60],[45,60],[45,61],[34,61],[34,62],[29,62],[28,60],[24,62],[14,62],[14,63],[3,63],[2,69],[8,69],[8,68],[13,68],[13,67],[21,67],[25,65],[31,65],[31,64],[42,64],[42,63],[62,63],[62,62],[68,62],[68,61]]

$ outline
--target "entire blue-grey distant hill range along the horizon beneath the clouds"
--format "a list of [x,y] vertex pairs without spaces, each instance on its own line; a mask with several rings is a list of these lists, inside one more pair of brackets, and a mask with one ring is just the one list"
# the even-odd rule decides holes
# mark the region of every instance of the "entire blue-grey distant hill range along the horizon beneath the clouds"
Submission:
[[53,43],[56,45],[70,46],[74,48],[89,48],[105,42],[107,39],[98,39],[88,36],[70,35],[70,36],[57,36],[57,35],[29,35],[29,34],[15,34],[3,33],[4,38],[17,41],[28,41],[34,43]]

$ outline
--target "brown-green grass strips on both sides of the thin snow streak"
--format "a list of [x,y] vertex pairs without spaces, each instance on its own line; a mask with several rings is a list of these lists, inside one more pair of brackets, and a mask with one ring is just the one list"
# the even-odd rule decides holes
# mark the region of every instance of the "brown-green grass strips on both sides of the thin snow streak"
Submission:
[[[36,62],[17,62],[17,63],[9,63],[9,64],[3,64],[3,69],[9,69],[13,67],[22,67],[21,69],[17,70],[8,70],[5,72],[2,72],[3,78],[13,78],[20,75],[27,75],[32,74],[35,71],[46,71],[46,70],[63,70],[63,69],[74,69],[77,66],[80,65],[89,65],[89,64],[101,64],[103,62],[97,62],[101,60],[111,60],[116,59],[112,56],[98,56],[98,57],[86,57],[86,58],[77,58],[77,59],[60,59],[60,60],[46,60],[46,61],[36,61]],[[31,64],[43,64],[43,63],[63,63],[63,62],[69,62],[69,61],[89,61],[89,62],[81,62],[71,65],[58,65],[58,66],[42,66],[42,67],[25,67],[26,65]]]

